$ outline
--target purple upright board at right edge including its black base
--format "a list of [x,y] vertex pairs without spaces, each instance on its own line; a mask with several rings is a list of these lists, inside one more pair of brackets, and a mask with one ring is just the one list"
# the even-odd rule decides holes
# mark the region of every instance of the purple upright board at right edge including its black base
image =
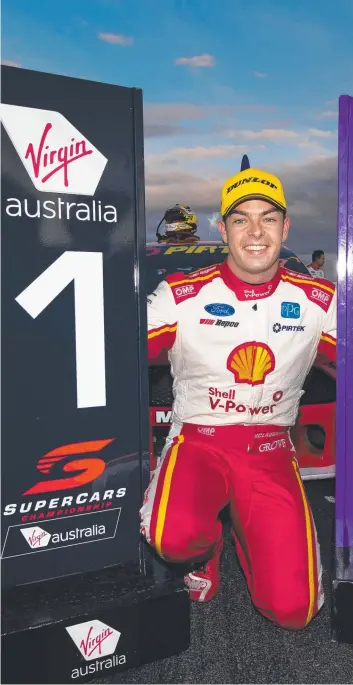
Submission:
[[353,98],[339,99],[333,637],[353,644]]

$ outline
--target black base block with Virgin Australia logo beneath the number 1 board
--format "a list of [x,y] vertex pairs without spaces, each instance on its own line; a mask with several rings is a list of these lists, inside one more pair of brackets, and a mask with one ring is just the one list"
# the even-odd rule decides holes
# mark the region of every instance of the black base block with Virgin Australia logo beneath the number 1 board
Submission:
[[190,603],[179,579],[139,569],[3,591],[3,683],[79,683],[178,654],[190,644]]

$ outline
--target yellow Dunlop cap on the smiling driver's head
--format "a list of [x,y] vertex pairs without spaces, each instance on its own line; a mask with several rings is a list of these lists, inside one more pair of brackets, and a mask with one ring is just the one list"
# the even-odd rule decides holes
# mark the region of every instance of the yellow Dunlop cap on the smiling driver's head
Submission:
[[225,182],[221,196],[221,214],[246,200],[267,200],[280,209],[287,209],[282,183],[272,174],[260,169],[245,169]]

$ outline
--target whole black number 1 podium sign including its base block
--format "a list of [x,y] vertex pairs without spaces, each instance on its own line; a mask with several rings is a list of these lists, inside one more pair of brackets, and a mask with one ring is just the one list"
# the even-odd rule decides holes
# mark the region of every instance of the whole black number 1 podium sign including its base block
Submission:
[[139,533],[142,93],[2,67],[1,122],[2,682],[83,682],[189,644]]

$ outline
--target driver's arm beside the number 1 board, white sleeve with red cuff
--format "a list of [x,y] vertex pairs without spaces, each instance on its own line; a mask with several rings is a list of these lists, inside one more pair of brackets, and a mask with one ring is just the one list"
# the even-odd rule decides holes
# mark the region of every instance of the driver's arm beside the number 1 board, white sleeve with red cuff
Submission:
[[170,350],[177,332],[176,304],[172,291],[162,281],[147,297],[148,357],[157,357],[163,349]]

